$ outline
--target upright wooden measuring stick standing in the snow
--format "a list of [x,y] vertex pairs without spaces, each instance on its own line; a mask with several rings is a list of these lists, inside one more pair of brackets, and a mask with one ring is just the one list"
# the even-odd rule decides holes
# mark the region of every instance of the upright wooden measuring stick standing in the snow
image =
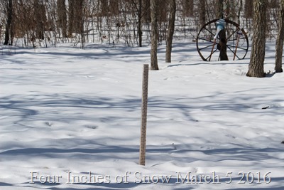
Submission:
[[148,104],[148,73],[149,65],[143,65],[142,105],[141,105],[141,137],[140,137],[140,165],[145,166],[146,157],[146,125]]

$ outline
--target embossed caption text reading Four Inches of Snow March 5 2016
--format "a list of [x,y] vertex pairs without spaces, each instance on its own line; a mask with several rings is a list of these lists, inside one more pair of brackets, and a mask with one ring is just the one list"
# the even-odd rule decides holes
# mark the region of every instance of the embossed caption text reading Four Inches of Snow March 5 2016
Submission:
[[[257,171],[255,173],[248,171],[240,171],[238,174],[234,174],[232,171],[226,172],[226,175],[222,176],[217,174],[216,171],[212,171],[210,174],[192,174],[175,172],[175,175],[146,175],[141,171],[126,171],[122,175],[102,175],[93,174],[91,171],[84,174],[73,174],[71,171],[66,171],[65,176],[62,175],[43,175],[38,171],[31,171],[30,184],[40,182],[41,184],[270,184],[271,183],[271,171],[261,173]],[[234,176],[234,177],[233,177]]]

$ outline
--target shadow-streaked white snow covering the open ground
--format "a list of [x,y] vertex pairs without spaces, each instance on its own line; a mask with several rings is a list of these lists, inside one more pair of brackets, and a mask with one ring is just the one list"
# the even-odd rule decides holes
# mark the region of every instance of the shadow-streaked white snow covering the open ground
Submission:
[[[4,49],[0,189],[283,189],[284,74],[247,78],[249,55],[203,62],[192,42],[175,42],[172,63],[159,47],[138,164],[149,52]],[[266,72],[274,56],[268,43]]]

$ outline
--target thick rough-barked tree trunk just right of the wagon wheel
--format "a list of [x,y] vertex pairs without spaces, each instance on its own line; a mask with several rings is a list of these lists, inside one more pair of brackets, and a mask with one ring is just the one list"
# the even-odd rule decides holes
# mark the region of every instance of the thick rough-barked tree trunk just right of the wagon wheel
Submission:
[[246,76],[265,77],[264,58],[266,53],[266,0],[253,0],[253,41],[251,60]]

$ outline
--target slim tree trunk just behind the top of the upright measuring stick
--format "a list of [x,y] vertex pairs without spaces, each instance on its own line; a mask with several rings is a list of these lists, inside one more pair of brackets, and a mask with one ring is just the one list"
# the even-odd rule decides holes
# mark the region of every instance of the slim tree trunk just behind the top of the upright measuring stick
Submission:
[[158,67],[158,1],[151,0],[151,70],[159,70]]

